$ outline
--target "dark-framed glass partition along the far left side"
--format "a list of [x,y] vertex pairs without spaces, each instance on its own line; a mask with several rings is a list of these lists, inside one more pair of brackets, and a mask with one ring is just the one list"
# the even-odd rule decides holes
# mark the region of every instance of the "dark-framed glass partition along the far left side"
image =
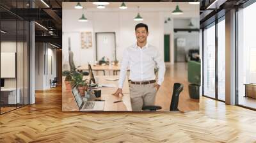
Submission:
[[[12,1],[10,8],[25,8],[28,1]],[[29,22],[0,8],[1,92],[0,114],[29,103]]]

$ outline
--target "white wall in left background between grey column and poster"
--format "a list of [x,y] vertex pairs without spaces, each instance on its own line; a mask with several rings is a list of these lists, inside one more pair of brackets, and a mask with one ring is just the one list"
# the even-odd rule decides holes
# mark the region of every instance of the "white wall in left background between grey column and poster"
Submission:
[[[49,89],[50,79],[56,77],[56,49],[48,43],[36,43],[35,47],[35,90]],[[50,70],[47,72],[49,56],[52,57],[52,73]]]

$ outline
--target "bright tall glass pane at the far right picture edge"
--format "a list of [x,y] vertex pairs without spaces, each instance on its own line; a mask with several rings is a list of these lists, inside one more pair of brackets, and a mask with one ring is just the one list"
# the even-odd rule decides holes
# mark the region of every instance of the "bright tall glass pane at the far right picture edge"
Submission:
[[256,3],[237,12],[237,90],[238,105],[256,109]]

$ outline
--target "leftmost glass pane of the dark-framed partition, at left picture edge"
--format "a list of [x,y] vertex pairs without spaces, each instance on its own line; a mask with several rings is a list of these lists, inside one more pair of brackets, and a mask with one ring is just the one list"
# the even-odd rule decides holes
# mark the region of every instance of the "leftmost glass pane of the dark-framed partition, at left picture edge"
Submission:
[[[1,113],[17,108],[17,21],[1,21]],[[3,32],[4,31],[4,32]]]

